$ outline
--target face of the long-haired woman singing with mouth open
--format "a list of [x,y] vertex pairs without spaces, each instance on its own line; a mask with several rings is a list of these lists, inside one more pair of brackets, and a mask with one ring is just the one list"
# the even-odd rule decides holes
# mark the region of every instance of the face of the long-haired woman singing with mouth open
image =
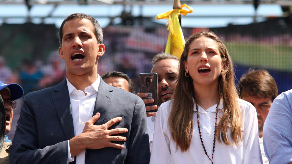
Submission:
[[190,44],[185,71],[190,73],[194,87],[218,85],[222,59],[218,44],[210,38],[200,37]]

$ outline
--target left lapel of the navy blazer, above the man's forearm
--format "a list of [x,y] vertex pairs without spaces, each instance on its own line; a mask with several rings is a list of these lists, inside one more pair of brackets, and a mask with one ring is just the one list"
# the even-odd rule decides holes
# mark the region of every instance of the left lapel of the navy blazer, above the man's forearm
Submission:
[[56,108],[64,135],[67,140],[70,140],[75,135],[70,97],[66,79],[62,81],[62,83],[60,83],[58,86],[56,86],[54,91],[55,93],[52,94],[54,106]]

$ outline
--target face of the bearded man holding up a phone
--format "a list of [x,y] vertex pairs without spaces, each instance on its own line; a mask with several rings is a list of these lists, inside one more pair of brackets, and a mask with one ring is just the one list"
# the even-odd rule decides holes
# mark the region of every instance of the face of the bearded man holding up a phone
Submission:
[[175,89],[175,80],[178,76],[176,59],[162,59],[157,61],[151,72],[157,73],[158,78],[158,104],[164,103],[172,97]]

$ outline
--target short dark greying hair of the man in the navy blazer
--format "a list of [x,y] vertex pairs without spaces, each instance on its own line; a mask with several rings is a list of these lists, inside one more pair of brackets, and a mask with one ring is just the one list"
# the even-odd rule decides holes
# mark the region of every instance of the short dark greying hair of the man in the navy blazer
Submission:
[[60,46],[62,46],[62,38],[63,38],[63,27],[64,24],[72,19],[88,19],[89,21],[91,21],[92,25],[93,25],[93,29],[94,29],[94,35],[97,39],[97,43],[102,43],[103,41],[103,34],[102,34],[102,29],[98,23],[98,21],[96,19],[93,18],[93,16],[87,15],[87,14],[83,14],[83,13],[75,13],[75,14],[71,14],[69,15],[66,19],[64,19],[64,21],[62,22],[60,29],[59,29],[59,43]]

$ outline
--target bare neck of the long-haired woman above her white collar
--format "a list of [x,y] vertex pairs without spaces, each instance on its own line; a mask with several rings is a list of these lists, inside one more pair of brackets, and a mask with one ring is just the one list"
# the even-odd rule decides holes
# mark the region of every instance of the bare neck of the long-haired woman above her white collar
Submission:
[[207,110],[218,103],[218,85],[194,86],[198,96],[199,105]]

